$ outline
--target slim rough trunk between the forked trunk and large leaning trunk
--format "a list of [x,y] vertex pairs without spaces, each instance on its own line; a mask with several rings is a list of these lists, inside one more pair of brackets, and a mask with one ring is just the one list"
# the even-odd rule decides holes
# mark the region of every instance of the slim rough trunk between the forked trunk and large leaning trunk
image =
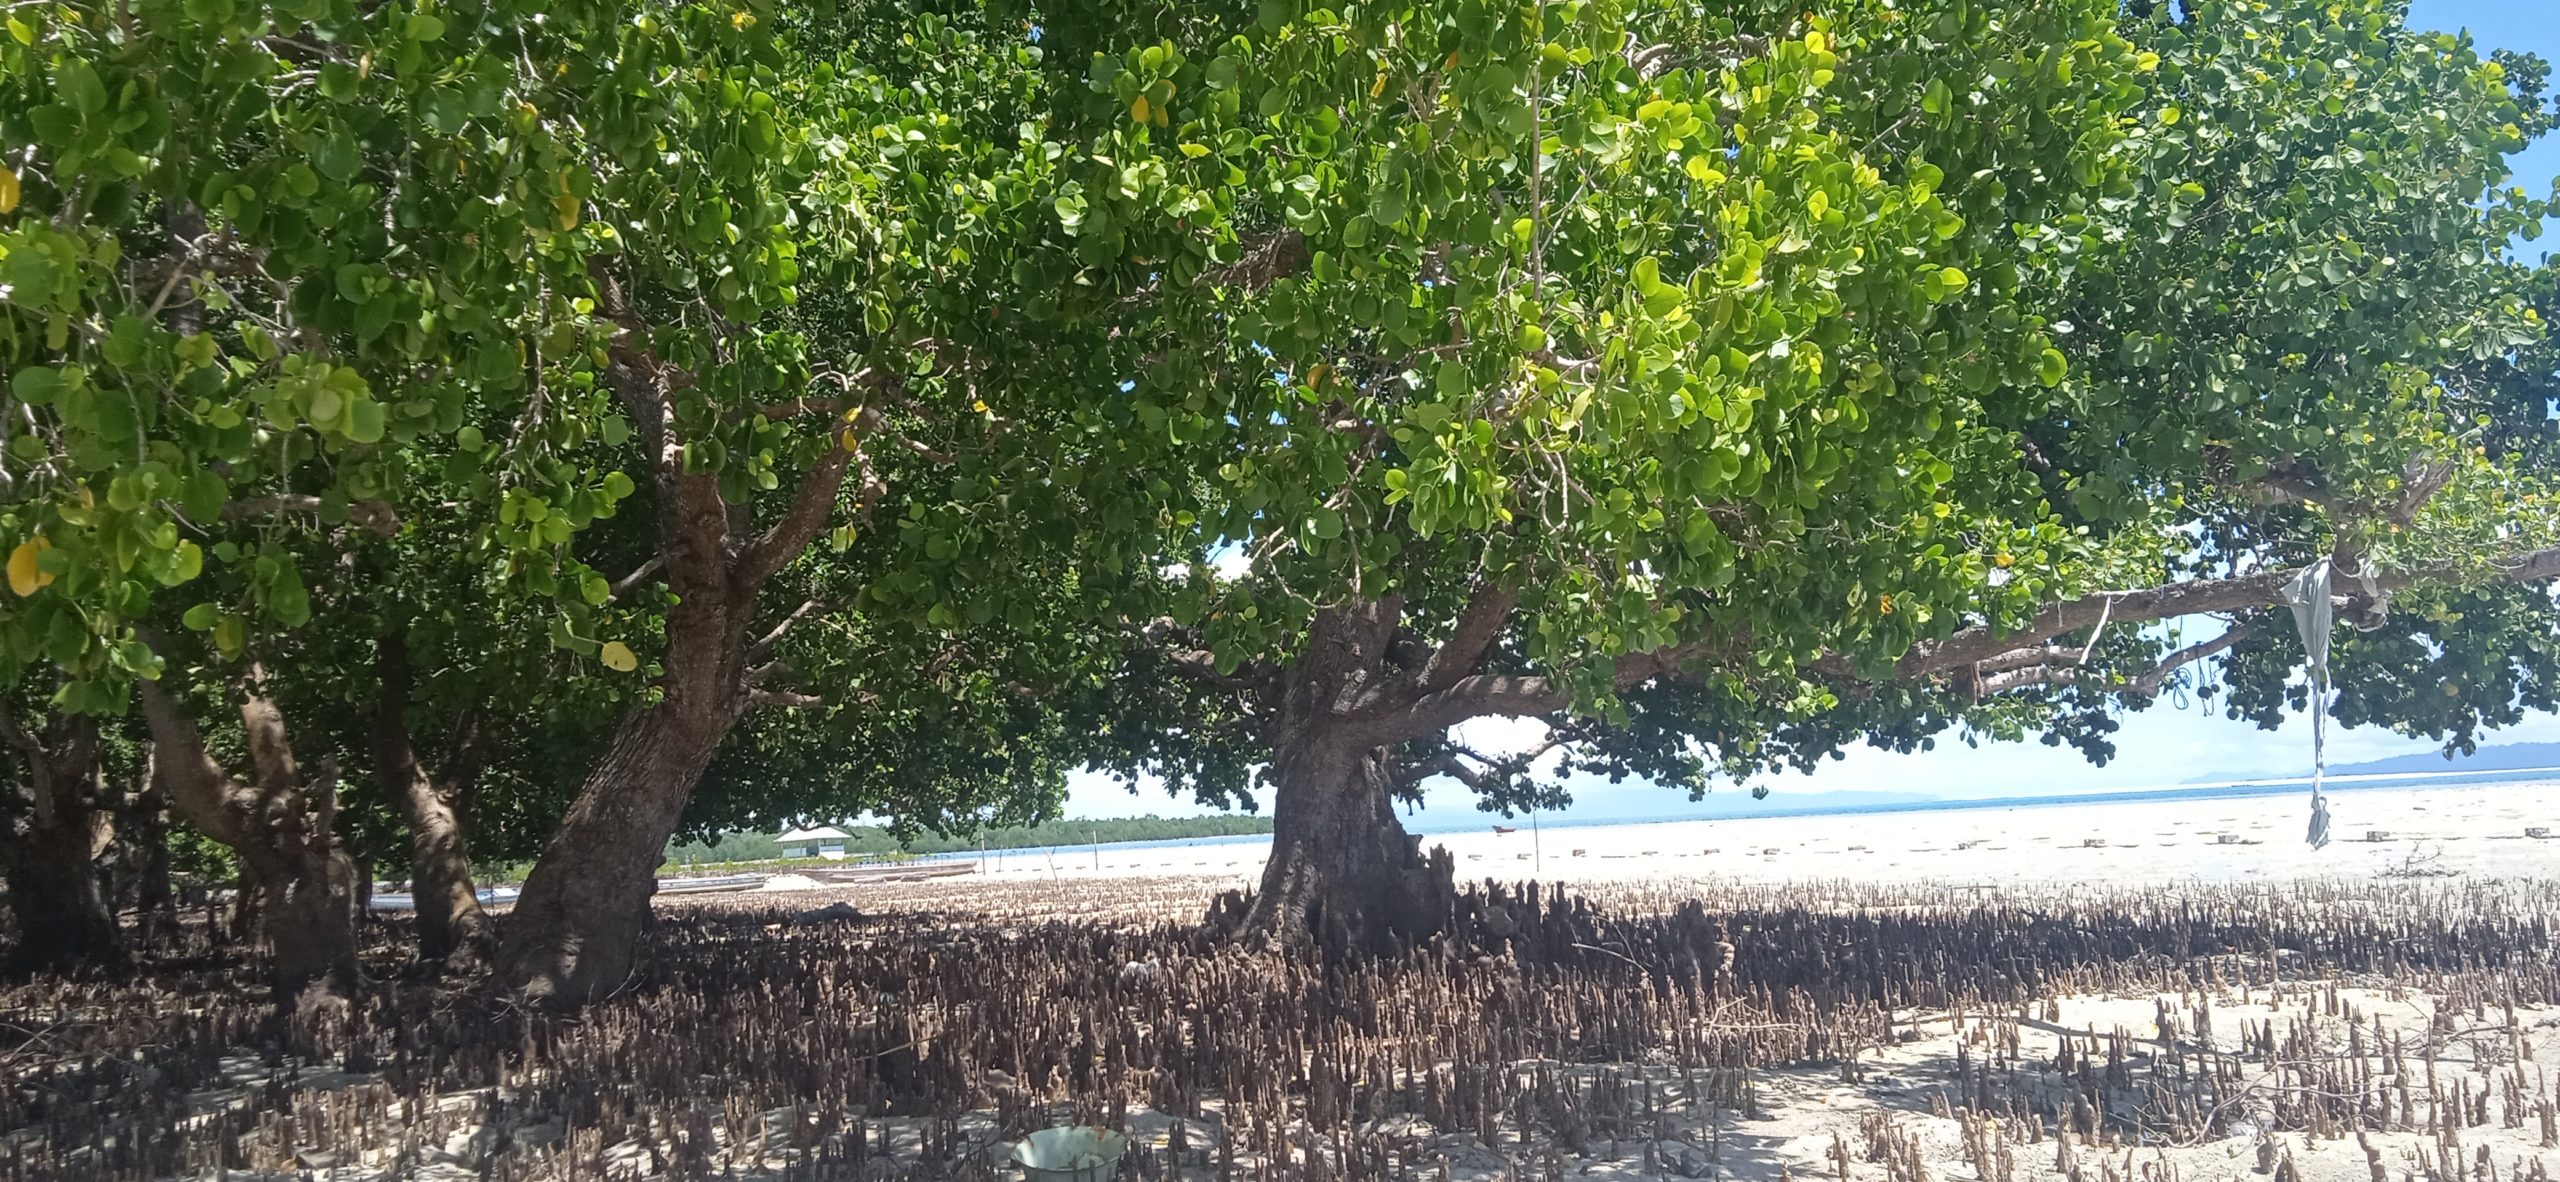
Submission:
[[410,742],[410,637],[374,647],[374,778],[410,824],[410,898],[417,901],[417,959],[471,970],[494,952],[489,913],[471,883],[471,844],[456,798],[463,791],[428,775]]

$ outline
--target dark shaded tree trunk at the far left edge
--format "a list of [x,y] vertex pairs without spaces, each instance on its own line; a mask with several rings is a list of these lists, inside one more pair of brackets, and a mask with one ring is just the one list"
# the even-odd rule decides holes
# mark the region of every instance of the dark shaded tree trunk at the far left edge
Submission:
[[13,970],[77,972],[125,959],[97,855],[113,821],[97,793],[97,719],[61,716],[28,732],[0,716],[26,762],[26,814],[0,816],[0,878],[18,921]]

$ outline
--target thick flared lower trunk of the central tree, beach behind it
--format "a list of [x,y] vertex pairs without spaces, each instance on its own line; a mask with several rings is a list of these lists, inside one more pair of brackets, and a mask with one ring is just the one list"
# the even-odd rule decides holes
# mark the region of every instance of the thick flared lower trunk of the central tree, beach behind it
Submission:
[[1444,849],[1395,819],[1382,747],[1300,742],[1272,762],[1272,855],[1244,931],[1329,952],[1388,952],[1441,931],[1457,898]]

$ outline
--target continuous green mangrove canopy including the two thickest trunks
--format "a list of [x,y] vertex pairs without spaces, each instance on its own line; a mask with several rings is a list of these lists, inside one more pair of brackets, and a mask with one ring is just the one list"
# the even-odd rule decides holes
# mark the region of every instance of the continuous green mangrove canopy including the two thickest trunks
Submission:
[[2340,719],[2460,747],[2560,663],[2545,82],[2396,0],[18,5],[0,688],[49,775],[141,686],[287,901],[540,849],[550,1000],[678,829],[1078,762],[1364,936],[1393,798],[1559,801],[1469,719],[2273,721],[2317,560]]

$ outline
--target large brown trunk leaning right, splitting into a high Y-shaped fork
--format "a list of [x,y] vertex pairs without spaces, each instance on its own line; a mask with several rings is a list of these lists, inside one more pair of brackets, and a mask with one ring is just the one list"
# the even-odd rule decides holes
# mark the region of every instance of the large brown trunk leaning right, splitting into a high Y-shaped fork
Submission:
[[[612,292],[604,304],[622,315]],[[630,980],[658,890],[655,867],[686,798],[737,719],[778,698],[758,688],[778,665],[755,660],[788,622],[755,637],[758,591],[827,530],[850,471],[860,471],[858,509],[881,494],[860,450],[835,445],[801,473],[781,517],[748,537],[748,512],[722,499],[719,481],[684,468],[684,440],[668,422],[678,376],[635,351],[617,351],[609,376],[655,455],[658,555],[650,568],[666,578],[676,606],[666,619],[658,704],[622,716],[507,916],[497,982],[538,1005],[581,1005]],[[852,432],[847,443],[858,443]]]

